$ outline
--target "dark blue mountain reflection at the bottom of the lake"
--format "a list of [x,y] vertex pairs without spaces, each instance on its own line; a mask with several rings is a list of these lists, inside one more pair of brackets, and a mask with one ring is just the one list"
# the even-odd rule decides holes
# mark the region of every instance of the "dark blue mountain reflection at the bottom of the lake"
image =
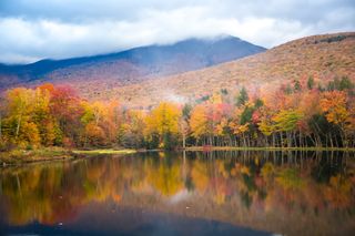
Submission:
[[[47,226],[42,224],[30,224],[26,226],[9,227],[12,234],[39,234],[39,235],[246,235],[266,236],[268,233],[253,230],[244,227],[236,227],[231,224],[206,220],[201,218],[179,217],[166,214],[144,213],[132,208],[118,207],[115,212],[108,212],[114,218],[109,225],[97,225],[87,227],[88,222],[77,223],[75,227],[57,225]],[[120,220],[124,216],[123,220]],[[83,218],[90,220],[90,218]],[[131,222],[139,220],[139,224]],[[131,224],[129,227],[124,224]]]

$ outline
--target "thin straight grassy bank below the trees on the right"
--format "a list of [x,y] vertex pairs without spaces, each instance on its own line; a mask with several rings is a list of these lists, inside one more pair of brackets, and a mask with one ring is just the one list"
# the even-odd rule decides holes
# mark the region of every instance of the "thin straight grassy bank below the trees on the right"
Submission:
[[278,146],[190,146],[185,151],[344,151],[355,152],[355,147],[278,147]]

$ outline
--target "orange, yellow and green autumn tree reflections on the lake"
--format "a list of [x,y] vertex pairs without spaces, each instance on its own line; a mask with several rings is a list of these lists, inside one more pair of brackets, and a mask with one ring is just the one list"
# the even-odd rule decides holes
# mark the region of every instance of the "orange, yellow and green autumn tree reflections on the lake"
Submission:
[[324,227],[341,213],[354,227],[355,163],[343,155],[153,153],[3,168],[0,201],[11,225],[70,222],[92,202],[150,209],[179,198],[171,203],[189,202],[196,216],[262,229],[280,229],[290,214]]

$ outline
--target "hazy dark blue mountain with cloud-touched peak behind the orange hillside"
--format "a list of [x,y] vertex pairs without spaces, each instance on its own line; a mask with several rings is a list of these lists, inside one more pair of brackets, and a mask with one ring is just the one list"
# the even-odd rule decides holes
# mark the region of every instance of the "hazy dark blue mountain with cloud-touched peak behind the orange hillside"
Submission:
[[0,89],[40,82],[80,83],[111,81],[128,85],[146,79],[178,74],[265,51],[234,37],[189,39],[170,45],[149,45],[118,53],[42,60],[26,65],[0,64]]

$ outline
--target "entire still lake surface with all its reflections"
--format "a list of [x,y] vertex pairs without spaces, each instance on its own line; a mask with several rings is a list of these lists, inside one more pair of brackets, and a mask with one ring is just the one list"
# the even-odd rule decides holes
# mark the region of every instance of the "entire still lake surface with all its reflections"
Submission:
[[0,171],[0,235],[355,232],[354,153],[140,153]]

